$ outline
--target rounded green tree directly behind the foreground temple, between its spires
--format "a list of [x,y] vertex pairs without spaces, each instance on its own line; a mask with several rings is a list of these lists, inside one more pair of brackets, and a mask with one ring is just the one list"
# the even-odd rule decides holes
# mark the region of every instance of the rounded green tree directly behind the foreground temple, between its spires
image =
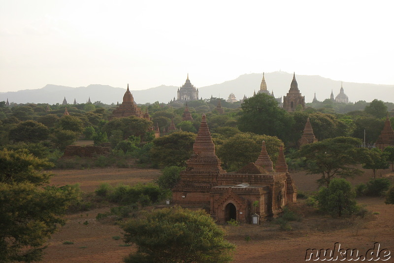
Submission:
[[222,161],[223,168],[234,171],[246,164],[255,162],[265,141],[268,155],[276,161],[278,149],[283,142],[275,136],[258,135],[251,132],[235,134],[218,146],[217,155]]

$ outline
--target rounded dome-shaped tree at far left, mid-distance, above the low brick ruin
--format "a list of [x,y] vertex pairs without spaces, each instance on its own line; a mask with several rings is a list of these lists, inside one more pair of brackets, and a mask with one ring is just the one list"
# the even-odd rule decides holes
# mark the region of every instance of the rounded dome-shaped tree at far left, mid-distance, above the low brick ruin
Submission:
[[39,142],[48,138],[49,129],[36,121],[18,123],[9,132],[10,139],[14,141]]

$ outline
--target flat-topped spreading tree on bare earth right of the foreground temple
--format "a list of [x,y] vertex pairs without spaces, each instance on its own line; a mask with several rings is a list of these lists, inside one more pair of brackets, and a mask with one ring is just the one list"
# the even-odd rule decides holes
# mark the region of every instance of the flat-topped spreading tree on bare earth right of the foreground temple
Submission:
[[361,140],[352,137],[336,137],[323,141],[303,145],[298,155],[305,157],[309,174],[322,174],[318,180],[320,185],[329,185],[335,176],[360,175],[361,170],[352,165],[362,162],[362,152],[364,149],[358,148]]

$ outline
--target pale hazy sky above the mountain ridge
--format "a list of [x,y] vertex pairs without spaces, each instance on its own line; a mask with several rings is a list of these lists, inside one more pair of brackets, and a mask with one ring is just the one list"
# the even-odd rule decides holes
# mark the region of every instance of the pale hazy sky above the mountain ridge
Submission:
[[394,84],[393,2],[0,0],[0,92],[198,88],[277,70]]

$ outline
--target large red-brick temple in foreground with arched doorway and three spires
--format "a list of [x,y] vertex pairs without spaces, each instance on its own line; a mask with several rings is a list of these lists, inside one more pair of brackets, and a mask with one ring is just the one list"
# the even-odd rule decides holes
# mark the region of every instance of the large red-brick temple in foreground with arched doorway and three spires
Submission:
[[[193,152],[172,190],[176,204],[204,208],[219,224],[230,219],[249,224],[254,213],[262,221],[296,201],[296,186],[287,170],[283,148],[279,149],[275,170],[263,142],[255,163],[227,173],[220,166],[206,117],[202,115]],[[258,201],[256,207],[252,205],[255,201]]]

